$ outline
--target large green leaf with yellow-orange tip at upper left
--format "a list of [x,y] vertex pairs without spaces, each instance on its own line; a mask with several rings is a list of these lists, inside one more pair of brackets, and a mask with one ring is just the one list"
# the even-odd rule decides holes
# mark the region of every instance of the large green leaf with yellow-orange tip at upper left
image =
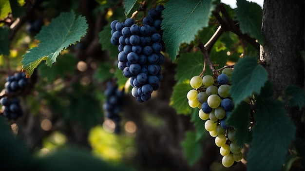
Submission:
[[42,60],[51,67],[62,50],[85,36],[87,28],[86,19],[81,16],[76,18],[74,11],[62,12],[49,25],[43,26],[36,36],[40,41],[38,47],[30,49],[21,61],[26,75],[30,77]]

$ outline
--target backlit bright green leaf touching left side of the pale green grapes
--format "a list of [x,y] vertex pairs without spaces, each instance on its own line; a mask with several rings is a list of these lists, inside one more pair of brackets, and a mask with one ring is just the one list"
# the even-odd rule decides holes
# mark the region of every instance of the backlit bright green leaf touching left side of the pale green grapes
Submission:
[[190,114],[191,107],[189,106],[187,94],[193,89],[190,85],[190,79],[185,79],[177,83],[173,87],[170,106],[172,106],[178,114]]

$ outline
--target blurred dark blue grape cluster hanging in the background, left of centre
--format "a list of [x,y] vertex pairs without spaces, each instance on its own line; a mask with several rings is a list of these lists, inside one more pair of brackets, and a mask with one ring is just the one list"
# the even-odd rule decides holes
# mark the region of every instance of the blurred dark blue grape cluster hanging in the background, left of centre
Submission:
[[104,103],[104,110],[106,118],[112,119],[115,123],[114,133],[120,132],[120,120],[119,112],[123,110],[125,105],[124,89],[119,90],[117,84],[114,81],[107,82],[107,88],[104,92],[106,101]]

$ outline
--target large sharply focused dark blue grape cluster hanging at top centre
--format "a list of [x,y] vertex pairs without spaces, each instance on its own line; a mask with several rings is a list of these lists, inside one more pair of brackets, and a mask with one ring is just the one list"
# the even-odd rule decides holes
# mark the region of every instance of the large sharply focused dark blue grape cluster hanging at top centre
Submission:
[[161,74],[160,65],[165,57],[161,31],[162,5],[150,9],[148,16],[139,26],[133,19],[124,22],[114,20],[111,22],[111,43],[118,45],[118,68],[125,77],[130,78],[133,87],[132,95],[138,102],[151,98],[153,91],[158,90]]

